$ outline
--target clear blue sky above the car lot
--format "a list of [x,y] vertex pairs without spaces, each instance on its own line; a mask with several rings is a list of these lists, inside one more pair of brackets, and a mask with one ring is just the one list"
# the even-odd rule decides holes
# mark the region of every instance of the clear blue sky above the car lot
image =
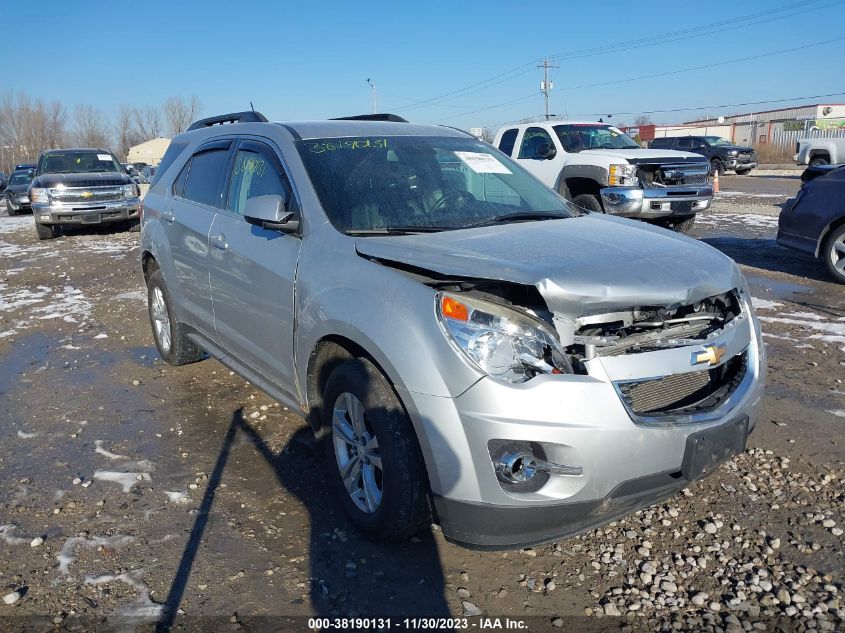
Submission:
[[[779,11],[784,7],[792,8]],[[271,120],[284,120],[369,112],[365,80],[371,77],[380,111],[469,128],[542,114],[542,71],[534,66],[556,56],[560,68],[553,72],[551,112],[596,118],[845,92],[838,70],[845,39],[621,82],[843,38],[843,12],[843,0],[646,5],[144,0],[56,2],[46,11],[14,2],[6,3],[0,18],[7,63],[0,93],[27,92],[69,109],[90,103],[108,114],[120,103],[158,104],[170,95],[196,95],[205,115],[247,109],[252,101]],[[796,15],[776,19],[790,13]],[[760,23],[749,24],[755,21]],[[683,32],[713,23],[722,24],[701,37]],[[606,51],[633,40],[642,41],[636,48]],[[594,50],[602,47],[605,52]],[[10,65],[12,60],[17,61]],[[24,66],[28,72],[22,72]],[[503,74],[470,94],[417,103]],[[604,82],[619,83],[572,89]],[[845,103],[845,95],[811,101]],[[780,105],[650,116],[674,122]],[[634,116],[617,114],[612,120],[630,122]]]

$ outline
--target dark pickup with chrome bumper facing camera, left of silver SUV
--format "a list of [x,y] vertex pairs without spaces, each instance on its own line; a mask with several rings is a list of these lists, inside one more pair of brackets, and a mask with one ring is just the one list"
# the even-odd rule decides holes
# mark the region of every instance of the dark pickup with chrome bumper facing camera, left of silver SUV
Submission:
[[138,185],[105,149],[41,152],[29,190],[35,230],[42,240],[62,226],[123,222],[138,225]]

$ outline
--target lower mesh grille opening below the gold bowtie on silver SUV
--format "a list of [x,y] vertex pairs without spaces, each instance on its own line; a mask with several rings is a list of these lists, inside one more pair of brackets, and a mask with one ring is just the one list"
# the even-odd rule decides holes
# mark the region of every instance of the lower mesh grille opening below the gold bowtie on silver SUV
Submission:
[[678,415],[712,411],[745,377],[746,352],[715,369],[619,383],[625,405],[636,415]]

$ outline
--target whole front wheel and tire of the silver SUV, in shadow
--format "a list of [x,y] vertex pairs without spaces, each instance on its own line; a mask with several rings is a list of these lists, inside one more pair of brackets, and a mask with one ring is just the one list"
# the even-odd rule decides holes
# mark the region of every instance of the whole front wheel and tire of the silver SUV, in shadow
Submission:
[[349,521],[369,539],[398,541],[431,522],[428,477],[413,426],[393,387],[365,358],[329,375],[325,455]]

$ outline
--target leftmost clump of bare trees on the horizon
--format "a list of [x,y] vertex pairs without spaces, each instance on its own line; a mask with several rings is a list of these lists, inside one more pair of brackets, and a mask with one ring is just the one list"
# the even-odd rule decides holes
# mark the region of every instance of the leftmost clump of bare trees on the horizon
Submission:
[[32,162],[43,149],[65,142],[65,110],[60,103],[33,101],[24,93],[6,94],[0,102],[0,162],[8,170]]

